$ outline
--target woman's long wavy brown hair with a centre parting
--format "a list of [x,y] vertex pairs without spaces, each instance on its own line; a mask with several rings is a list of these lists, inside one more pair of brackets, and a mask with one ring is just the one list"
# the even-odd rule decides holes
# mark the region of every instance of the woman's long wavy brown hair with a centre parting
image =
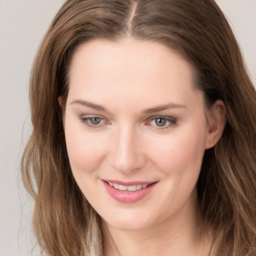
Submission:
[[[225,103],[226,125],[205,151],[197,181],[198,215],[213,228],[210,255],[256,254],[256,93],[235,37],[213,0],[67,0],[35,57],[29,99],[32,134],[21,162],[35,200],[33,227],[48,255],[101,255],[100,217],[69,166],[62,124],[68,68],[93,38],[131,36],[177,49],[197,70],[206,106]],[[62,105],[62,107],[63,107]]]

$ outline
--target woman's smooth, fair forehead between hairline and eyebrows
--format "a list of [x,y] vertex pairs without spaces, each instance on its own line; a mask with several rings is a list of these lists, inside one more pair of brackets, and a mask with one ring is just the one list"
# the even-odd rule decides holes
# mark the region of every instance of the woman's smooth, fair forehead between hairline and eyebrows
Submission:
[[95,39],[81,44],[73,55],[68,94],[123,101],[139,95],[140,101],[156,104],[185,101],[189,99],[187,93],[194,90],[194,73],[181,54],[159,42]]

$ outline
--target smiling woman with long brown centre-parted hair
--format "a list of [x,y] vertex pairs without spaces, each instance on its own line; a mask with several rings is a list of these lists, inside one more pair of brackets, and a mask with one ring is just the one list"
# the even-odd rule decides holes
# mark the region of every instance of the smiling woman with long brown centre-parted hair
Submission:
[[46,254],[256,254],[256,93],[213,0],[66,1],[30,105]]

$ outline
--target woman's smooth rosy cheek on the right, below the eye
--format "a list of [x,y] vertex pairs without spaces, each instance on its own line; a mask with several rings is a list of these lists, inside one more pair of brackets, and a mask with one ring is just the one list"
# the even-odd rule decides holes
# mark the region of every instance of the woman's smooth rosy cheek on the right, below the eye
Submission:
[[180,129],[164,138],[155,139],[151,158],[165,174],[198,174],[204,154],[205,130]]

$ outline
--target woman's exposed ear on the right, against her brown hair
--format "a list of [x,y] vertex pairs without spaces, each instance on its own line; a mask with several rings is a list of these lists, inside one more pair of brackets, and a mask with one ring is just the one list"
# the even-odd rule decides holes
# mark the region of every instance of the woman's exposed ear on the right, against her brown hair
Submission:
[[226,107],[222,100],[216,100],[207,110],[207,135],[205,149],[213,147],[220,139],[226,123]]

